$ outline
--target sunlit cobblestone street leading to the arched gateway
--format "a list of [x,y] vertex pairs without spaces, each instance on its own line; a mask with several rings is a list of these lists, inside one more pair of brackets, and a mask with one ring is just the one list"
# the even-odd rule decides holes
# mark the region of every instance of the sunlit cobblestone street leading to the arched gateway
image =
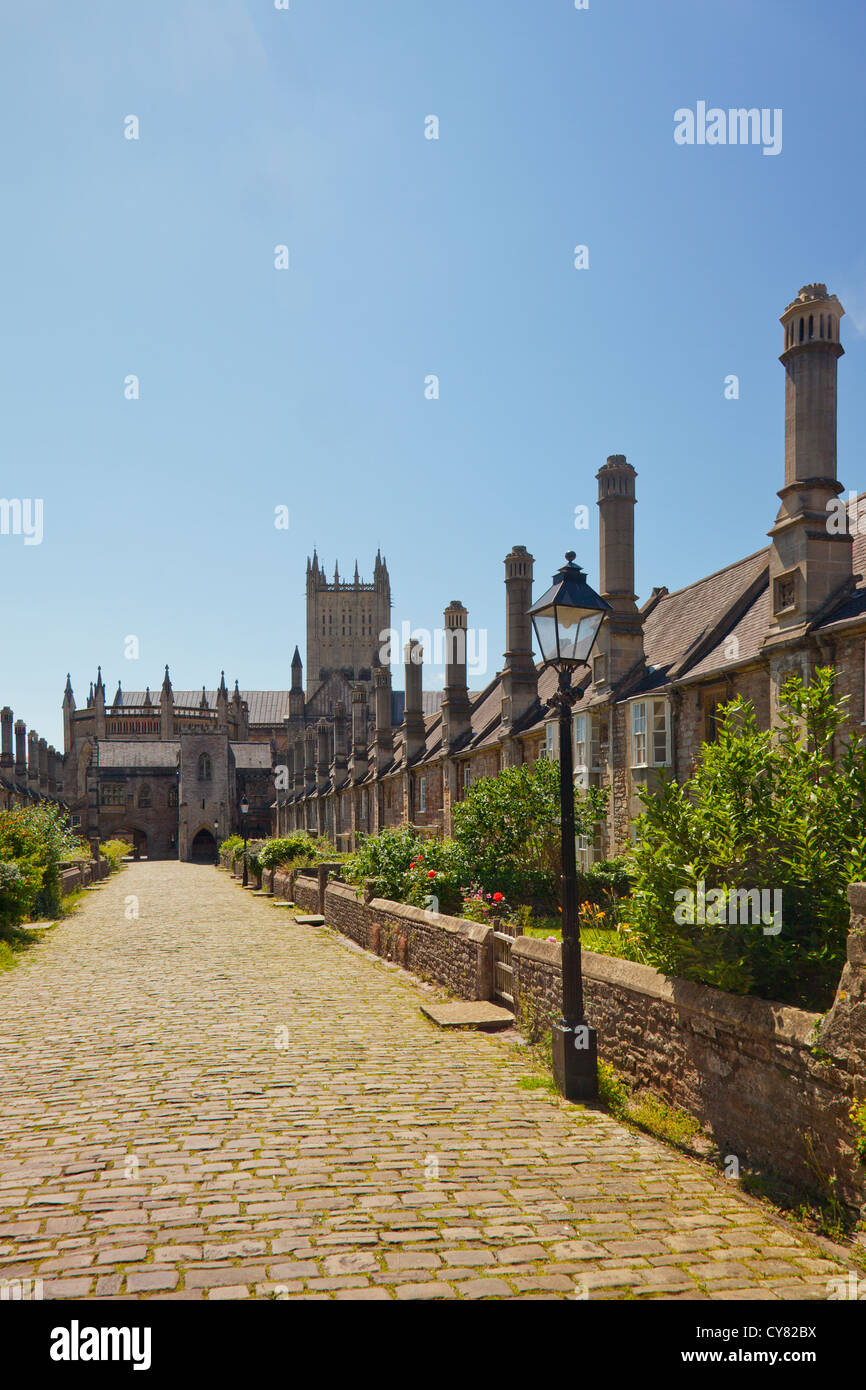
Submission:
[[[129,895],[138,920],[126,920]],[[138,863],[0,976],[0,1276],[46,1298],[826,1298],[841,1266],[225,873]]]

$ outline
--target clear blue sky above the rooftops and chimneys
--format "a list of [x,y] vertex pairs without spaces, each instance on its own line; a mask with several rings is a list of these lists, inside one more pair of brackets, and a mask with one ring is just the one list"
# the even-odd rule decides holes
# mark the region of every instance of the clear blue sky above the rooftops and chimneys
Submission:
[[[49,741],[99,662],[110,696],[286,687],[313,543],[381,546],[398,627],[461,599],[498,669],[514,542],[537,592],[571,545],[598,581],[609,453],[641,596],[765,545],[809,281],[866,486],[859,0],[291,6],[4,7],[0,495],[44,538],[0,537],[0,703]],[[699,100],[781,107],[781,153],[677,146]]]

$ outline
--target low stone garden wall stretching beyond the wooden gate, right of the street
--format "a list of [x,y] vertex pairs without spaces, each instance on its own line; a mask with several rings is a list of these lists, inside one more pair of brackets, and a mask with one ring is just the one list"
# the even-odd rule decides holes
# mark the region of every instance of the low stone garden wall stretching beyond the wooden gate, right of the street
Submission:
[[306,912],[321,912],[328,926],[357,945],[443,984],[463,999],[489,999],[492,995],[493,929],[489,926],[432,916],[386,898],[363,902],[356,888],[327,883],[321,870],[316,877],[299,873],[293,898]]

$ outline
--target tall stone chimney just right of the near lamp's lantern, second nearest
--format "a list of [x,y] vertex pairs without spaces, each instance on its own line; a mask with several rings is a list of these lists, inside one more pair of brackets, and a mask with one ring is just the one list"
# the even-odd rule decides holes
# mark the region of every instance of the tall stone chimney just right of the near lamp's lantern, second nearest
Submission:
[[644,624],[634,591],[635,470],[612,453],[596,473],[599,509],[599,588],[612,612],[595,648],[592,680],[616,685],[644,660]]

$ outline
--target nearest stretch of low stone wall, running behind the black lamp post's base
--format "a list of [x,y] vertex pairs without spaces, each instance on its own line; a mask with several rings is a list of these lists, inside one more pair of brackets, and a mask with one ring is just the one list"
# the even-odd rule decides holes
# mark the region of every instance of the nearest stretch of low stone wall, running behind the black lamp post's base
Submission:
[[[851,894],[848,979],[823,1023],[616,956],[585,951],[582,966],[599,1056],[630,1086],[688,1111],[742,1168],[816,1191],[835,1176],[841,1197],[859,1207],[866,1169],[848,1112],[866,1093],[866,888]],[[559,942],[520,937],[512,962],[518,1017],[549,1026],[562,1002]]]

